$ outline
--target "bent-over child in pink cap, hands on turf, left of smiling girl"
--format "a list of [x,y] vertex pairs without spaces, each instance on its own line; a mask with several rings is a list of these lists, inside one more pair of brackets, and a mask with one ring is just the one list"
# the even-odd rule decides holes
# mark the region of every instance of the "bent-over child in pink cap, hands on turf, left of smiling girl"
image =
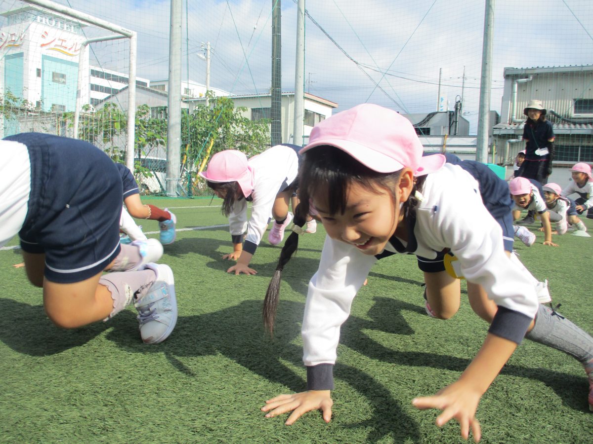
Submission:
[[[270,214],[274,224],[268,241],[272,245],[282,241],[284,230],[292,221],[289,201],[298,188],[295,147],[276,145],[251,159],[237,150],[221,151],[212,156],[208,169],[200,173],[223,200],[222,214],[228,217],[234,250],[222,259],[237,260],[228,273],[257,273],[249,268],[249,263],[266,231]],[[252,204],[249,220],[247,202]],[[247,236],[243,239],[246,230]]]

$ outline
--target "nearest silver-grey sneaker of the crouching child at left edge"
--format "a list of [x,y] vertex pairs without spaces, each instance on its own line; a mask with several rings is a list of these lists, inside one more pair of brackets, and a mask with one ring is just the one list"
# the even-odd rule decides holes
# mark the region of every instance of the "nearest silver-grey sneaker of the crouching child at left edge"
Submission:
[[158,344],[173,332],[177,323],[175,281],[170,266],[147,263],[146,268],[157,274],[151,288],[134,302],[138,310],[140,336],[146,344]]

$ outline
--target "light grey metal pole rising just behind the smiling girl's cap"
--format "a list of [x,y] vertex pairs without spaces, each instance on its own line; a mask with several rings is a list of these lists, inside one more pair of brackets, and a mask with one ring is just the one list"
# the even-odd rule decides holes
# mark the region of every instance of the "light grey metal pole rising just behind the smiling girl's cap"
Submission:
[[297,58],[295,59],[295,116],[292,143],[302,146],[305,112],[305,0],[297,4]]

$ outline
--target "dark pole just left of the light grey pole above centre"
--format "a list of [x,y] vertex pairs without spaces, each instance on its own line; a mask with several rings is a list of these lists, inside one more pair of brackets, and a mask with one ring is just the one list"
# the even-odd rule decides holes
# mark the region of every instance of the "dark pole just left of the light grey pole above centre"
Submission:
[[282,49],[280,46],[280,0],[272,0],[272,145],[282,143]]

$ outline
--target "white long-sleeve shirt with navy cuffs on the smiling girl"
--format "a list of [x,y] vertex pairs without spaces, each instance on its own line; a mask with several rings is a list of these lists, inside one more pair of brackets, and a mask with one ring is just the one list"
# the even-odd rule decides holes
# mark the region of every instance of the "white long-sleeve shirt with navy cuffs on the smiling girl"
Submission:
[[[407,243],[398,240],[410,247],[416,243],[413,253],[428,259],[451,249],[467,281],[482,285],[499,306],[502,329],[493,333],[520,342],[517,338],[524,336],[538,306],[533,276],[521,272],[506,256],[502,229],[484,207],[478,182],[460,166],[445,164],[426,178],[422,194],[415,226],[409,231],[413,236]],[[387,249],[397,251],[392,243]],[[319,268],[309,283],[301,331],[310,390],[332,388],[327,365],[336,361],[340,326],[377,260],[326,237]]]

